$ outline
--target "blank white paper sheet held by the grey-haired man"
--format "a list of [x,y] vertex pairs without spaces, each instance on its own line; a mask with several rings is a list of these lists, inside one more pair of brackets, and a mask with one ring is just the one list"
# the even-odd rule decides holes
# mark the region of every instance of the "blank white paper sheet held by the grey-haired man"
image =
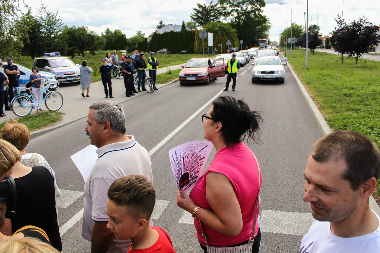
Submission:
[[89,145],[71,156],[71,160],[82,174],[84,181],[86,181],[98,159],[98,154],[95,152],[97,149],[94,145]]

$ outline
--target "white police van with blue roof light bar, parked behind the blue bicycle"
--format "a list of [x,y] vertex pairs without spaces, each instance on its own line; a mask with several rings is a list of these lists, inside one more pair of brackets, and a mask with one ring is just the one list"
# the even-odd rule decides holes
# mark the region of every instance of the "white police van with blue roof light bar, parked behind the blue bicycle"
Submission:
[[61,56],[59,52],[44,53],[43,57],[35,58],[33,66],[40,71],[55,74],[59,84],[80,83],[81,80],[79,64],[74,64],[70,58]]

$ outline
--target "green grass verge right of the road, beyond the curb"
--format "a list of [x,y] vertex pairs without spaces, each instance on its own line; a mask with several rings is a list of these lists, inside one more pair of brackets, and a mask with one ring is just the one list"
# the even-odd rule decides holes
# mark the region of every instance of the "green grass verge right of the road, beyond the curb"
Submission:
[[[354,130],[371,138],[380,148],[380,64],[378,61],[355,59],[330,53],[305,54],[296,50],[288,57],[333,130]],[[374,192],[380,204],[380,180]]]

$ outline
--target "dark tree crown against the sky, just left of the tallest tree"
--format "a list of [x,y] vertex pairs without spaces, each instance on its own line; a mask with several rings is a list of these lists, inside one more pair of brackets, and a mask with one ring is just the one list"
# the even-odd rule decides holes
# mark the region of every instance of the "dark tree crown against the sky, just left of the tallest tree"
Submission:
[[201,5],[200,3],[196,4],[197,8],[193,8],[193,13],[190,14],[190,18],[197,25],[206,25],[212,21],[220,21],[222,15],[222,8],[220,8],[218,3],[211,3],[206,6],[206,4]]

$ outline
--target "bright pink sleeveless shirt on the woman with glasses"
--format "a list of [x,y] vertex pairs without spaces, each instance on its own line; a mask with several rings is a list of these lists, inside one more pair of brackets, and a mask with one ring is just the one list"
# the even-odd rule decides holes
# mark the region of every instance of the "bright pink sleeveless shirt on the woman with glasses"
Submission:
[[[238,236],[228,236],[218,233],[202,223],[207,244],[216,247],[226,247],[249,239],[252,232],[253,216],[255,215],[256,197],[261,187],[258,169],[261,174],[260,165],[257,168],[254,155],[242,142],[235,144],[235,146],[227,146],[215,154],[214,160],[212,160],[206,172],[199,178],[189,196],[197,206],[212,211],[206,199],[206,174],[209,171],[224,174],[230,179],[235,188],[242,212],[243,227]],[[257,216],[258,214],[259,212],[257,211]],[[256,219],[257,216],[255,217]],[[194,225],[199,242],[206,246],[199,221],[194,219]],[[258,223],[256,222],[255,235],[257,232]]]

